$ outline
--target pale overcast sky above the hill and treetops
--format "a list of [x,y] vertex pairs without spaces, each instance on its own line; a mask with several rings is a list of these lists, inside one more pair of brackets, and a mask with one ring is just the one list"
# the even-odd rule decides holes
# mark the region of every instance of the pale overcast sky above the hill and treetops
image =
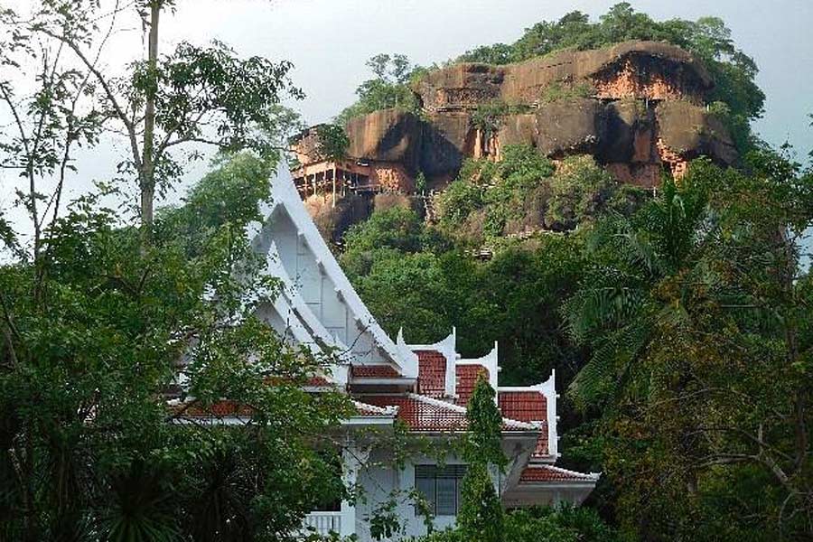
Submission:
[[[25,0],[0,0],[0,5]],[[219,39],[241,55],[294,62],[294,82],[307,98],[292,105],[308,123],[333,117],[354,99],[370,74],[364,62],[378,52],[401,52],[418,64],[442,62],[481,44],[513,42],[524,28],[581,10],[598,17],[614,0],[177,0],[162,22],[164,51],[173,43]],[[715,15],[760,67],[767,95],[756,130],[773,145],[790,141],[803,156],[813,149],[813,0],[642,0],[632,2],[656,19]],[[140,54],[140,34],[112,43],[109,70]],[[135,39],[135,41],[134,41]],[[135,45],[135,46],[134,46]],[[117,163],[114,145],[79,157],[72,194],[105,179]],[[186,182],[200,176],[195,168]],[[13,201],[14,179],[0,177],[0,206]],[[177,195],[170,201],[177,201]],[[17,216],[21,211],[17,210]],[[22,218],[22,217],[20,217]],[[16,221],[16,220],[15,220]]]

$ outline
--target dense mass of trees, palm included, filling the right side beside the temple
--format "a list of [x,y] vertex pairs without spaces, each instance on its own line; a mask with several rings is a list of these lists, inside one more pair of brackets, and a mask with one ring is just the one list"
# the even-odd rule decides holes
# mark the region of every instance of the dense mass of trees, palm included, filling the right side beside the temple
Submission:
[[[568,302],[593,357],[570,393],[601,412],[622,526],[653,540],[806,537],[811,177],[768,151],[692,165],[595,233]],[[744,496],[758,491],[761,499]]]

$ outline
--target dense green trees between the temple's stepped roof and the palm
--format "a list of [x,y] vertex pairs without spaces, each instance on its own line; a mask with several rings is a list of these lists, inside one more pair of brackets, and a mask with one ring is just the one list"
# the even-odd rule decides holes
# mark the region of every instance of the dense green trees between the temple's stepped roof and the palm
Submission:
[[403,210],[376,212],[353,232],[341,265],[388,332],[403,326],[410,341],[431,343],[457,326],[470,356],[499,340],[501,381],[516,384],[537,383],[579,359],[558,310],[581,273],[580,238],[509,244],[477,262]]

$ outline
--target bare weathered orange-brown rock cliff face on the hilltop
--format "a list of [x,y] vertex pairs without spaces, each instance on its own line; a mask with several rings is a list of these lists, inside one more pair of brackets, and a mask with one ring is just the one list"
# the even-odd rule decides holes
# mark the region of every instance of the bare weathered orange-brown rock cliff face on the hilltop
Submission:
[[[651,186],[663,167],[681,173],[706,154],[736,159],[724,126],[706,110],[714,82],[689,54],[662,42],[560,51],[505,66],[456,64],[416,86],[424,118],[384,110],[350,121],[350,155],[452,179],[463,158],[500,159],[505,145],[531,145],[557,159],[593,154],[622,182]],[[493,126],[483,107],[504,111]],[[497,107],[497,108],[500,108]]]

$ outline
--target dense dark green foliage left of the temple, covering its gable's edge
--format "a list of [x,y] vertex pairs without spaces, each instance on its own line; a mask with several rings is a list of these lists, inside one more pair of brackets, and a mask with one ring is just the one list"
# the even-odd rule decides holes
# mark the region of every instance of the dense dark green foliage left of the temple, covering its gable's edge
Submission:
[[[38,266],[0,267],[0,537],[286,537],[343,495],[335,452],[313,443],[350,406],[302,388],[329,360],[254,316],[277,291],[245,233],[269,167],[221,162],[160,213],[149,248],[80,199]],[[179,385],[179,408],[229,397],[252,407],[246,425],[176,423],[165,393]]]

